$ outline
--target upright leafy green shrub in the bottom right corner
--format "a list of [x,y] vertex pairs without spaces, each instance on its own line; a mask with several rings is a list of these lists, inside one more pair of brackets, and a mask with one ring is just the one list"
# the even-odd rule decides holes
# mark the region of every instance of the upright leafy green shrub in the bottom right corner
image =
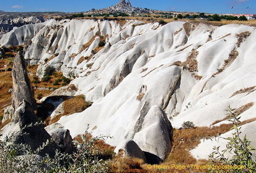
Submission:
[[[231,106],[228,106],[226,111],[229,121],[233,124],[231,130],[235,130],[235,132],[232,133],[232,137],[219,137],[228,140],[226,149],[220,151],[220,146],[215,146],[213,148],[215,151],[209,157],[214,165],[229,167],[219,167],[220,169],[212,169],[210,172],[256,172],[256,157],[252,154],[255,149],[251,146],[251,141],[247,139],[246,135],[244,138],[241,137],[241,126],[239,126],[241,117],[238,117],[236,110],[231,109]],[[229,152],[232,158],[227,158],[226,152]]]

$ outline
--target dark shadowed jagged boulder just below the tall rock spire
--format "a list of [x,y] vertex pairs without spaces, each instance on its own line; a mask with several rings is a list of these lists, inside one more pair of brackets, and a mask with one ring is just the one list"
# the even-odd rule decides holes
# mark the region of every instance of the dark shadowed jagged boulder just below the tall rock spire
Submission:
[[55,150],[59,149],[59,146],[55,142],[51,141],[51,136],[44,129],[44,125],[38,123],[37,116],[34,113],[30,103],[23,100],[20,106],[14,112],[12,122],[8,123],[3,129],[1,129],[0,139],[4,139],[5,136],[12,138],[16,144],[26,144],[31,147],[34,151],[43,146],[44,143],[49,143],[44,146],[39,152],[39,155],[50,156],[55,155]]

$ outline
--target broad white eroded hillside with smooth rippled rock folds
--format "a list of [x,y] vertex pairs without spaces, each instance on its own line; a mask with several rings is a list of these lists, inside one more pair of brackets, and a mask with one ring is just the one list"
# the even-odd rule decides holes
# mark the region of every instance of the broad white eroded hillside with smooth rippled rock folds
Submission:
[[[171,129],[186,121],[196,126],[228,123],[228,105],[239,110],[243,134],[256,146],[255,27],[171,22],[50,20],[15,28],[0,44],[25,44],[25,59],[39,64],[42,78],[55,70],[73,77],[71,84],[91,107],[62,116],[57,123],[72,137],[108,135],[117,146],[133,139],[143,151],[164,159],[171,149]],[[59,90],[66,94],[65,89]],[[61,109],[61,105],[59,107]],[[57,116],[53,112],[51,117]],[[171,122],[171,125],[169,124]],[[223,134],[230,135],[231,132]],[[214,145],[201,141],[191,153],[207,158]],[[205,152],[202,152],[205,151]]]

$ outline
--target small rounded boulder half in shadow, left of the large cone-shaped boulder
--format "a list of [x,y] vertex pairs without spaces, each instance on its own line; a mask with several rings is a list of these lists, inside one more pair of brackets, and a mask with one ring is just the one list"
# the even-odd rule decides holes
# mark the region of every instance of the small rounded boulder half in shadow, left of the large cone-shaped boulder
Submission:
[[114,152],[119,153],[120,149],[123,150],[123,156],[131,156],[135,158],[143,159],[146,162],[144,152],[139,148],[136,142],[126,139],[117,145]]

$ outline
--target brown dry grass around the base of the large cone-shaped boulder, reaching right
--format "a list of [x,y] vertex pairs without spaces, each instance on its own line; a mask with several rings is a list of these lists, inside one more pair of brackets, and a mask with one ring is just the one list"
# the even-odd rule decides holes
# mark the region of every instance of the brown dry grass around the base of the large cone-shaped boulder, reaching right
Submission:
[[[199,143],[200,139],[212,138],[212,136],[218,136],[220,133],[228,132],[232,128],[232,124],[224,124],[220,126],[213,126],[212,128],[208,127],[196,127],[191,129],[173,129],[173,142],[172,142],[172,151],[165,159],[162,164],[159,164],[164,167],[169,165],[169,169],[158,169],[158,168],[149,168],[147,164],[143,163],[141,159],[121,157],[119,153],[116,157],[113,158],[111,164],[111,172],[205,172],[204,169],[171,169],[171,165],[206,165],[209,164],[207,160],[199,160],[193,158],[190,155],[190,150],[195,148]],[[156,165],[157,166],[157,165]]]

